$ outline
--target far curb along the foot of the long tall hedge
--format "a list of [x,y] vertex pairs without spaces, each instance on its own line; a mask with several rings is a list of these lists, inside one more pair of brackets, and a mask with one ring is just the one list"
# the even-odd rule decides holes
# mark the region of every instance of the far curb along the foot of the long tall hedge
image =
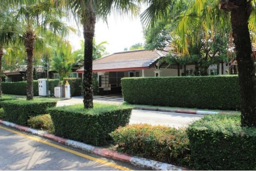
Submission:
[[216,114],[220,113],[220,112],[217,112],[217,111],[163,109],[163,108],[160,108],[160,107],[151,108],[151,107],[139,107],[139,106],[135,106],[134,109],[149,110],[149,111],[174,112],[174,113],[194,114],[194,115],[216,115]]

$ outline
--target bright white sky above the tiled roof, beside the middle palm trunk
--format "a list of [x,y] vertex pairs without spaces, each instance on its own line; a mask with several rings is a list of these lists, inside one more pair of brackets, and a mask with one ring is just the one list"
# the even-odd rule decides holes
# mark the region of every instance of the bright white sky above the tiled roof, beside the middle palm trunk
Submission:
[[[141,10],[143,11],[143,9]],[[102,20],[97,21],[95,29],[96,43],[108,41],[106,52],[109,54],[122,52],[125,48],[130,48],[137,43],[144,44],[143,29],[139,16],[129,18],[129,16],[113,16],[108,18],[108,25]],[[72,34],[69,41],[74,50],[80,49],[80,40],[83,40],[82,30],[80,34]]]

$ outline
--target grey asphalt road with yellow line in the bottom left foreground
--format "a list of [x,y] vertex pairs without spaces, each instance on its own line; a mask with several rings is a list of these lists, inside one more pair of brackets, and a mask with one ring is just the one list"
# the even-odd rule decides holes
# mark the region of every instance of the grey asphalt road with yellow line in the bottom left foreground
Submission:
[[0,125],[0,170],[141,170]]

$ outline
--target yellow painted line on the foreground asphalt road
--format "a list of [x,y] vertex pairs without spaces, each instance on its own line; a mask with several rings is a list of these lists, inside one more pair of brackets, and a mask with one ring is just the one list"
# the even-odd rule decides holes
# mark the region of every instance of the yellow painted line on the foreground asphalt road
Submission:
[[61,147],[60,145],[56,145],[56,144],[53,144],[53,143],[49,143],[49,142],[46,141],[46,140],[42,140],[42,139],[39,139],[39,138],[37,138],[37,137],[32,137],[32,136],[30,136],[30,135],[26,135],[26,134],[23,134],[23,133],[21,133],[21,132],[11,130],[11,129],[9,129],[9,128],[5,128],[5,127],[2,127],[2,126],[0,126],[0,128],[2,128],[3,130],[6,130],[6,131],[13,132],[14,134],[18,134],[18,135],[21,135],[21,136],[25,136],[25,137],[27,137],[27,138],[29,138],[29,139],[38,141],[38,142],[40,142],[40,143],[44,143],[44,144],[47,144],[47,145],[51,145],[52,147],[62,149],[63,151],[66,151],[66,152],[69,152],[69,153],[73,153],[74,155],[81,156],[81,157],[84,157],[84,158],[86,158],[86,159],[93,160],[93,161],[96,161],[96,162],[100,162],[101,164],[104,164],[104,165],[112,166],[113,168],[116,168],[116,169],[120,169],[120,170],[131,170],[131,169],[129,169],[129,168],[125,168],[125,167],[123,167],[123,166],[119,166],[119,165],[113,164],[112,162],[108,162],[108,161],[105,161],[105,160],[97,159],[97,158],[95,158],[95,157],[91,157],[91,156],[85,155],[85,154],[83,154],[83,153],[74,151],[74,150],[72,150],[72,149],[68,149],[68,148],[65,148],[65,147]]

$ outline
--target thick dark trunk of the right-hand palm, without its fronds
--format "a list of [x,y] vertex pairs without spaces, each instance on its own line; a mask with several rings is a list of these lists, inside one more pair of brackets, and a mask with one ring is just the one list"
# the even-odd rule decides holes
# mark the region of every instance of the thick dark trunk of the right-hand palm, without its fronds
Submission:
[[[233,1],[231,24],[234,44],[236,46],[238,77],[241,95],[241,124],[256,127],[256,77],[253,56],[251,56],[251,41],[248,29],[250,16],[250,1]],[[229,7],[230,7],[229,6]]]

